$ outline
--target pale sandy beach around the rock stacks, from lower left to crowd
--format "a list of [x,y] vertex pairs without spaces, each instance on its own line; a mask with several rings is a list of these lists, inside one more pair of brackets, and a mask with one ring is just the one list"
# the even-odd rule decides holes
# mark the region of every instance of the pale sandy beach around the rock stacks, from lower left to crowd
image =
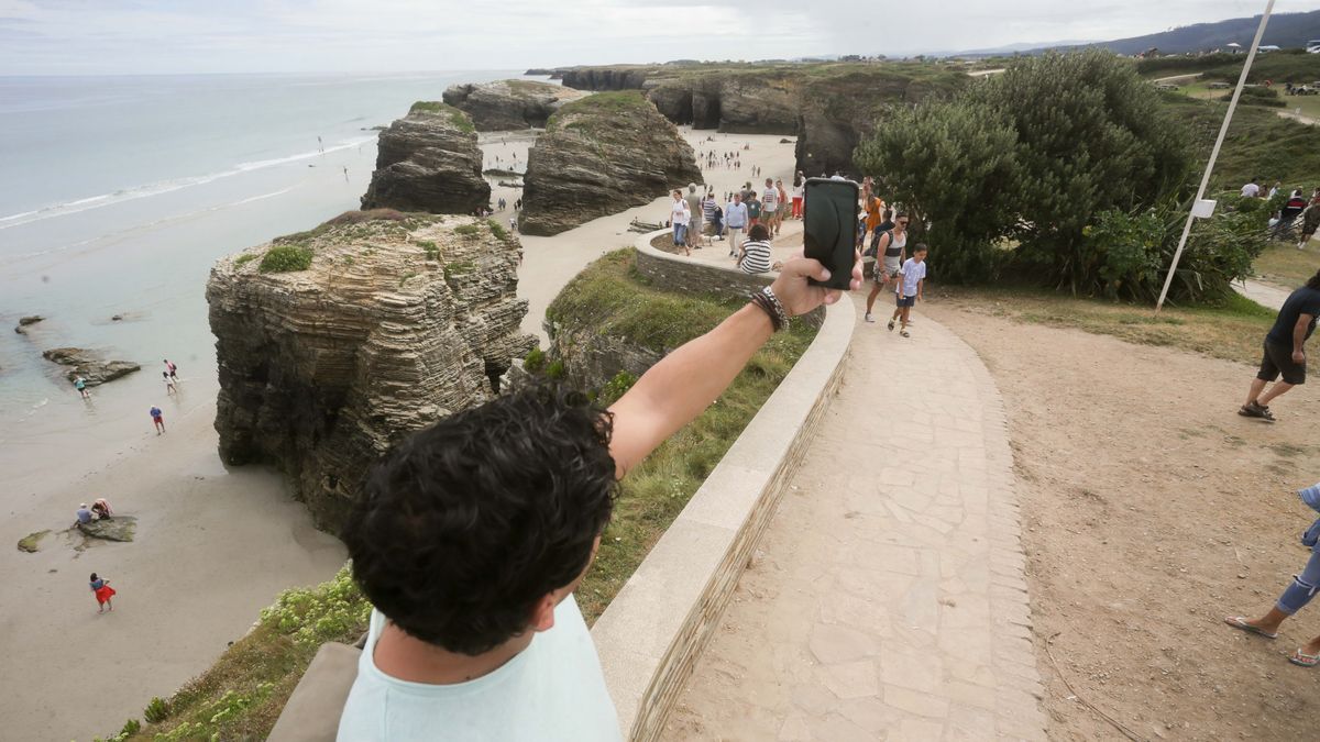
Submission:
[[[781,144],[780,136],[686,128],[684,135],[698,152],[751,147],[742,152],[741,170],[705,174],[717,193],[752,180],[752,165],[763,168],[762,180],[792,177],[793,145]],[[482,139],[487,168],[511,161],[525,168],[531,132]],[[494,218],[512,218],[519,195],[517,189],[495,186],[492,203],[503,197],[511,207]],[[544,339],[545,306],[564,284],[599,255],[632,244],[634,218],[668,219],[668,203],[659,197],[553,238],[521,238],[519,294],[529,301],[524,329]],[[783,243],[776,256],[789,252]],[[698,255],[718,260],[727,255],[722,244]],[[206,669],[280,590],[323,581],[343,565],[343,547],[313,527],[277,473],[219,462],[214,383],[198,379],[190,392],[185,380],[183,395],[166,408],[164,436],[153,434],[144,416],[140,428],[121,426],[117,441],[87,437],[84,445],[67,446],[67,455],[33,461],[24,474],[7,477],[11,496],[0,540],[15,544],[34,531],[51,533],[37,553],[0,549],[7,588],[0,595],[0,636],[7,665],[18,668],[0,675],[4,737],[63,741],[117,730],[125,718],[140,717],[152,696],[166,697]],[[73,511],[96,496],[139,518],[133,543],[74,549],[82,537],[66,531]],[[87,588],[92,572],[119,591],[114,613],[98,615]]]

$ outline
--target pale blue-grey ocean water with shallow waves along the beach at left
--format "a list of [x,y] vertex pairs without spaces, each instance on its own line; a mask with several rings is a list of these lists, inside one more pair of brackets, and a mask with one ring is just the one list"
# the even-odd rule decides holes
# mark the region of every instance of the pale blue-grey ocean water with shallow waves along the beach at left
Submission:
[[[211,264],[356,209],[371,127],[450,84],[515,75],[0,77],[4,481],[73,475],[91,452],[150,434],[153,404],[166,424],[207,407]],[[46,321],[16,334],[26,314]],[[41,358],[59,346],[143,371],[84,401]],[[180,366],[178,396],[166,397],[165,358]],[[53,459],[70,465],[51,471]]]

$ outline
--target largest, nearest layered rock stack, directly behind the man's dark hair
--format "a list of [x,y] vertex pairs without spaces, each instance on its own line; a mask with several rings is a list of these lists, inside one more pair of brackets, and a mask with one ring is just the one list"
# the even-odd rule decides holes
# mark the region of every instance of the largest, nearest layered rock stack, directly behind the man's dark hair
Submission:
[[260,272],[280,244],[211,269],[215,428],[227,463],[279,465],[338,531],[372,462],[494,396],[536,338],[519,330],[521,246],[494,222],[412,214],[293,236],[305,271]]

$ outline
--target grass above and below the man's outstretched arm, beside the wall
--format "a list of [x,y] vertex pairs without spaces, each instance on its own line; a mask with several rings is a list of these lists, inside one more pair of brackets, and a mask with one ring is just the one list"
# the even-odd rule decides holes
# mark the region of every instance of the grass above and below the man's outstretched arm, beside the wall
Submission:
[[[714,329],[741,304],[656,289],[634,269],[632,251],[622,250],[579,273],[546,314],[556,321],[598,327],[628,343],[669,349]],[[601,615],[642,564],[813,337],[814,330],[804,322],[793,322],[788,331],[777,333],[701,417],[623,479],[614,519],[601,539],[595,564],[577,591],[589,622]],[[607,399],[624,384],[631,386],[622,375],[615,376],[598,399]]]

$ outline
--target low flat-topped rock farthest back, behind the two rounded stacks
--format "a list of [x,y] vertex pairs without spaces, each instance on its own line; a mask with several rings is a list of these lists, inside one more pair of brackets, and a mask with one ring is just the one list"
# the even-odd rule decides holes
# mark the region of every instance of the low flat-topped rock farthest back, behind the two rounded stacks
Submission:
[[498,81],[455,84],[445,91],[445,103],[465,111],[479,132],[545,128],[545,123],[570,100],[587,94],[572,87],[533,81]]

